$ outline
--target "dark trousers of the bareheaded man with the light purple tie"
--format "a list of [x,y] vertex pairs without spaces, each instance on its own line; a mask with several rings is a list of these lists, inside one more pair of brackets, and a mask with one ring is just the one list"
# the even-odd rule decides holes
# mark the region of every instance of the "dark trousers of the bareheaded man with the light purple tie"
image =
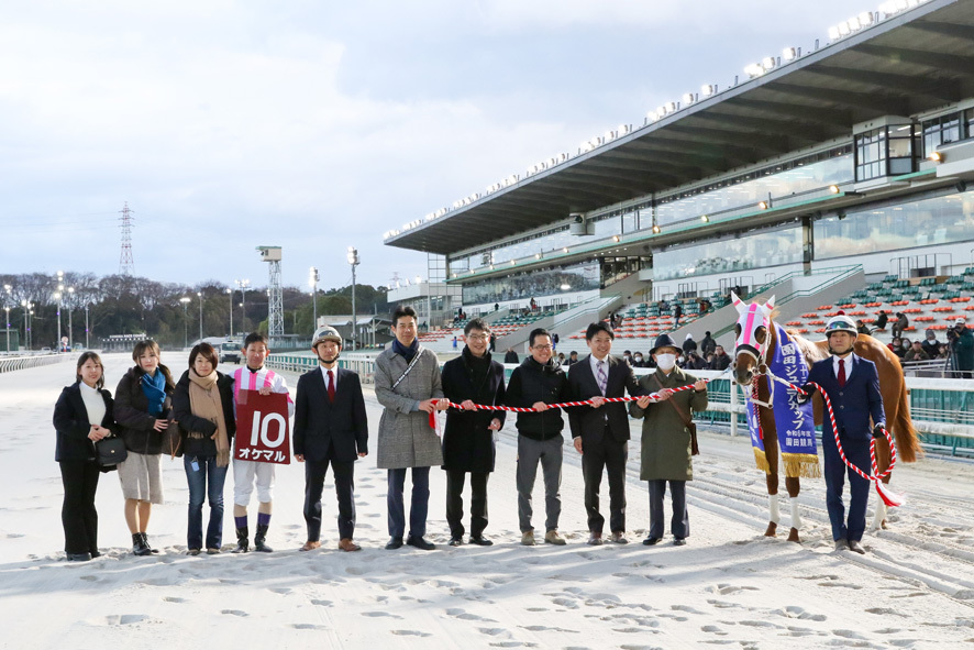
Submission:
[[609,528],[612,532],[624,532],[628,441],[617,442],[606,430],[601,442],[583,443],[582,452],[582,476],[585,478],[585,511],[588,515],[588,530],[602,532],[606,524],[606,518],[599,513],[599,489],[605,470],[609,476]]

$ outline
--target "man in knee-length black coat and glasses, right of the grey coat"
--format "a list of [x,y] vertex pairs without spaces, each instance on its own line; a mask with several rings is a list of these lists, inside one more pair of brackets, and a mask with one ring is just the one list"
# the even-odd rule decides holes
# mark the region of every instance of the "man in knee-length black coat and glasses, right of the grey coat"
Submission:
[[446,521],[450,546],[463,543],[463,486],[471,474],[471,543],[489,547],[487,478],[494,471],[494,432],[503,426],[505,411],[478,410],[474,405],[503,404],[503,366],[487,351],[490,326],[475,318],[464,327],[467,344],[461,355],[443,364],[443,395],[464,410],[446,412],[443,469],[446,470]]

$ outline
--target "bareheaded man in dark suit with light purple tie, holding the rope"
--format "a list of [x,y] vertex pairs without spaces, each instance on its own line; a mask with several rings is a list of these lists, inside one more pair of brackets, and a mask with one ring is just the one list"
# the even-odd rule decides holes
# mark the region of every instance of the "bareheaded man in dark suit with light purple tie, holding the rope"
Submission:
[[599,513],[602,470],[609,476],[609,528],[611,541],[626,539],[626,461],[629,459],[629,415],[624,403],[606,404],[606,397],[641,395],[632,368],[624,360],[609,354],[616,339],[605,321],[594,322],[585,332],[591,351],[568,370],[572,399],[591,399],[595,408],[568,409],[568,425],[575,449],[582,454],[585,480],[585,510],[588,515],[588,543],[602,543],[606,518]]

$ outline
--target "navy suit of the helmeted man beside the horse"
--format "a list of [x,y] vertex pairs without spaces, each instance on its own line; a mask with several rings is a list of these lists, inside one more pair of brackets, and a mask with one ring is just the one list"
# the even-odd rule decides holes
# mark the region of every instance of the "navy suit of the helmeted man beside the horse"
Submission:
[[[852,367],[849,368],[850,361]],[[879,393],[879,375],[876,365],[854,354],[845,357],[845,386],[839,379],[830,356],[811,366],[808,382],[815,382],[828,393],[839,428],[839,440],[845,458],[865,473],[870,472],[870,441],[874,425],[885,423],[883,395]],[[824,407],[823,407],[824,408]],[[872,419],[872,423],[870,422]],[[824,458],[826,504],[832,522],[832,539],[860,541],[866,527],[866,503],[870,482],[848,469],[839,455],[835,437],[828,412],[822,417],[822,456]],[[844,520],[842,489],[849,475],[849,520]]]

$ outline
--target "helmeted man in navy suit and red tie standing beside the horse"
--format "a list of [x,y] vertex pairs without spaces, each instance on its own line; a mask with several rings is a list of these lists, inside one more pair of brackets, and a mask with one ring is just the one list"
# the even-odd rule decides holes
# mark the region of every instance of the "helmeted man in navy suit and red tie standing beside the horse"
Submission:
[[[831,418],[822,418],[826,505],[832,524],[832,539],[837,551],[849,549],[865,553],[862,536],[866,527],[870,482],[852,469],[846,469],[835,439],[849,462],[857,467],[870,466],[870,436],[881,438],[886,428],[879,375],[872,361],[853,354],[857,332],[851,318],[841,315],[832,317],[826,323],[826,335],[832,355],[811,366],[808,383],[801,387],[807,395],[799,393],[798,401],[803,404],[810,399],[817,384],[832,403],[835,429],[832,428]],[[870,418],[873,421],[872,430]],[[846,473],[850,493],[848,520],[844,519],[845,507],[842,504]]]

